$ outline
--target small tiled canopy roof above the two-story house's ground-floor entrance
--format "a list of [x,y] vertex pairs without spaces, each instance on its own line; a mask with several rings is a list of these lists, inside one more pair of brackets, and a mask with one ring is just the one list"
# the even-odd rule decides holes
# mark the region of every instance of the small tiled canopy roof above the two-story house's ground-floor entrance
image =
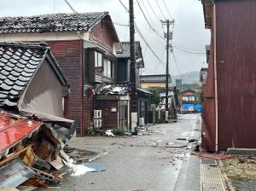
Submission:
[[127,84],[98,84],[96,96],[126,96],[129,90]]

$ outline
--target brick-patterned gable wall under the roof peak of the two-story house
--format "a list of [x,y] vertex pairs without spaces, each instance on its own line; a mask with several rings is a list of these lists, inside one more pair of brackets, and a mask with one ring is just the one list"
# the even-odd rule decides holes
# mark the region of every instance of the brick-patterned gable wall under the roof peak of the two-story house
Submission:
[[108,27],[104,25],[103,22],[98,23],[91,29],[89,40],[101,43],[103,46],[113,51],[112,35],[109,32]]

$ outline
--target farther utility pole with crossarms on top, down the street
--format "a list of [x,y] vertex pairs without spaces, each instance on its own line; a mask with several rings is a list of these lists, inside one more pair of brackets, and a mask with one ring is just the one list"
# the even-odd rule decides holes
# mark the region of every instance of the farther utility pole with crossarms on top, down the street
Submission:
[[[169,94],[169,48],[170,39],[172,40],[172,32],[170,32],[170,25],[174,25],[174,20],[161,20],[164,25],[167,26],[167,32],[165,34],[166,38],[166,122],[168,122],[169,109],[168,109],[168,94]],[[172,44],[171,44],[172,50]]]

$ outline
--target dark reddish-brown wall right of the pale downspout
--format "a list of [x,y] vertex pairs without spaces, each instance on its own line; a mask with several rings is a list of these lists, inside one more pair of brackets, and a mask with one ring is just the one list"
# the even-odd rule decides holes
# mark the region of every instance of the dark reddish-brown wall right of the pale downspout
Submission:
[[218,148],[256,145],[256,1],[216,1]]

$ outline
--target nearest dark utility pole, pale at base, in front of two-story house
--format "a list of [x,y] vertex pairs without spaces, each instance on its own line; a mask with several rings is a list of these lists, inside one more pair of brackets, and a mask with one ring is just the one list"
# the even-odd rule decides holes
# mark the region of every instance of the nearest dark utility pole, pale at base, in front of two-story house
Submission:
[[135,40],[134,40],[134,10],[133,0],[129,0],[130,15],[130,54],[131,54],[131,131],[137,132],[137,84],[136,84],[136,58],[135,58]]

